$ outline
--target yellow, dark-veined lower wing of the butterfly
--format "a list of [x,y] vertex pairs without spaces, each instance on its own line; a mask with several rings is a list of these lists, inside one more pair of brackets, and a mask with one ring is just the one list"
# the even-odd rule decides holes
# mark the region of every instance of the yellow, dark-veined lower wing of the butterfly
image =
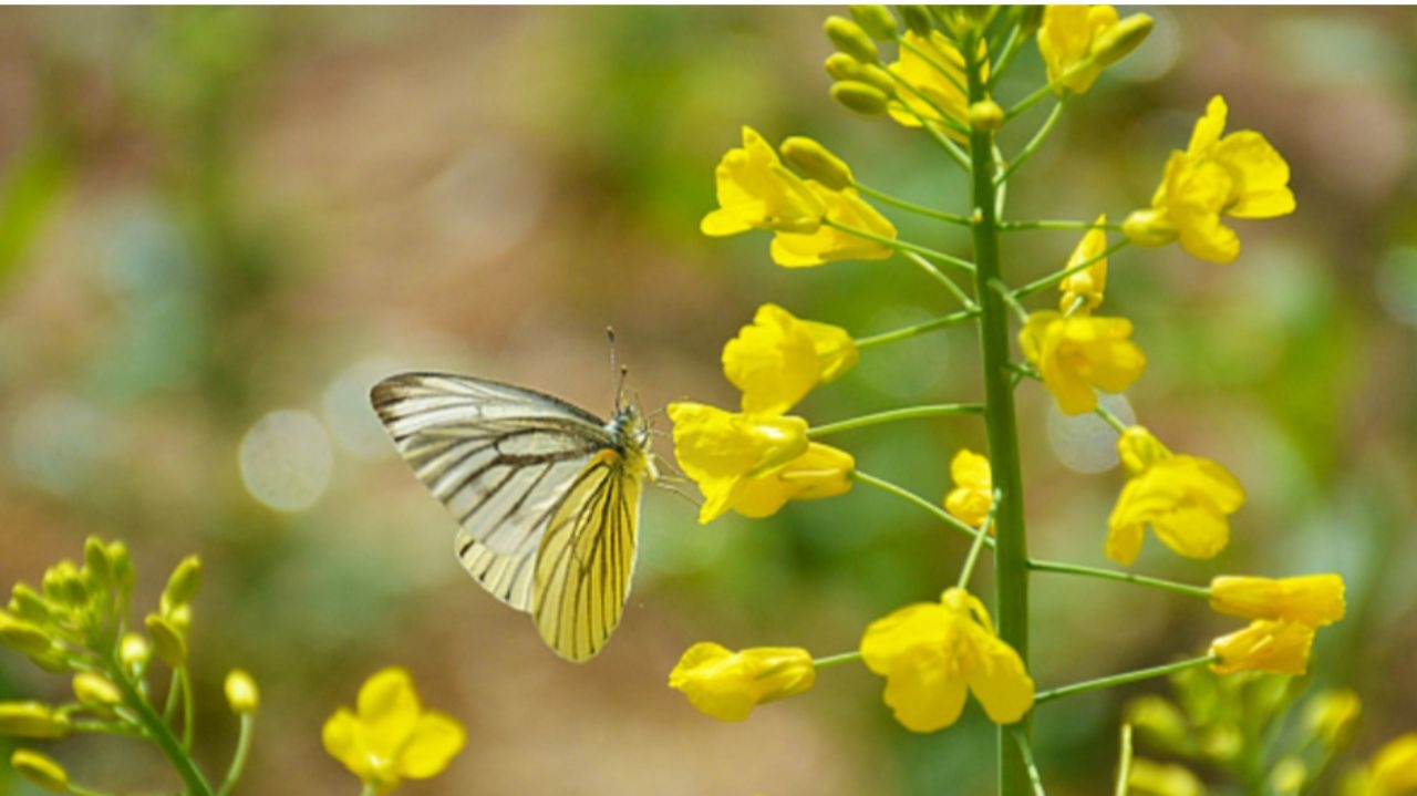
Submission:
[[605,644],[629,596],[648,462],[625,453],[605,449],[585,465],[536,557],[531,616],[541,640],[577,663]]

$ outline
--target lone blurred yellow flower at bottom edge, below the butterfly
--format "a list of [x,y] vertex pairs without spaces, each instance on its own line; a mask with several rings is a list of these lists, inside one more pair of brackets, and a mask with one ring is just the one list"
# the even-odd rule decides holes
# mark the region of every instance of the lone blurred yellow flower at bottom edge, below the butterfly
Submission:
[[436,775],[465,744],[462,725],[424,710],[412,680],[398,667],[364,683],[357,712],[340,708],[324,722],[324,751],[376,793]]

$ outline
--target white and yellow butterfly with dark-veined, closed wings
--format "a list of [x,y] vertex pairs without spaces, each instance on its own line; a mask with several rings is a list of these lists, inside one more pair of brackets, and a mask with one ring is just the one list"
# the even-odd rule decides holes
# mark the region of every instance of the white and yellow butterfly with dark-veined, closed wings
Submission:
[[458,520],[463,568],[531,613],[555,654],[594,657],[625,610],[640,491],[657,479],[639,408],[616,398],[602,421],[544,392],[436,373],[385,378],[370,401]]

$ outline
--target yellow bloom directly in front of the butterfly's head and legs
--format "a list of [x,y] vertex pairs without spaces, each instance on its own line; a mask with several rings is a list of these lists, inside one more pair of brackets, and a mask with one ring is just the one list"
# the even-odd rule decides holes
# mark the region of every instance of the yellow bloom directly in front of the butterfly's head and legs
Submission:
[[808,442],[806,421],[734,414],[680,401],[669,405],[674,457],[704,493],[699,521],[726,511],[775,514],[788,500],[832,497],[852,489],[850,453]]

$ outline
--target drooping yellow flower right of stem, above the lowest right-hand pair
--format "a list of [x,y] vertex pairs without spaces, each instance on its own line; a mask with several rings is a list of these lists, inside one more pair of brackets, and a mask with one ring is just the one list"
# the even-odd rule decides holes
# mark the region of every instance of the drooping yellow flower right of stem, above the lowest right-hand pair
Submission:
[[1187,558],[1210,558],[1230,542],[1227,517],[1244,504],[1244,489],[1210,459],[1176,456],[1142,426],[1117,440],[1131,479],[1107,521],[1107,557],[1131,564],[1146,525]]

